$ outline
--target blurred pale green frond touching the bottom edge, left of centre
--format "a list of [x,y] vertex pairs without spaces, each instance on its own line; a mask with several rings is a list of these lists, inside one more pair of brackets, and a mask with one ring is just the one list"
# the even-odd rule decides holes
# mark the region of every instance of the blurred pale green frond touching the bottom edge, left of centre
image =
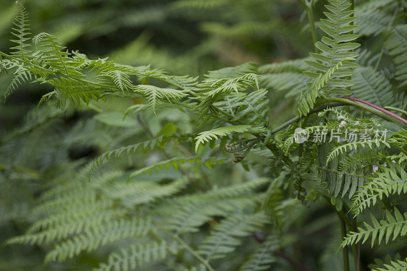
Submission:
[[101,263],[93,271],[133,270],[150,262],[164,260],[168,252],[175,254],[178,247],[175,243],[167,244],[164,240],[161,240],[160,243],[131,245],[122,249],[120,253],[111,253],[107,262]]

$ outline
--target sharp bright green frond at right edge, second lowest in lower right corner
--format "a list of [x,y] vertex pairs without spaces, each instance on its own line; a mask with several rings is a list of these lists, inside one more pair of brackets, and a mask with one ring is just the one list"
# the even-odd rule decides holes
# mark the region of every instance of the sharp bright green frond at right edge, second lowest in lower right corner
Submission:
[[371,247],[373,247],[375,240],[380,243],[385,237],[386,244],[389,242],[391,235],[393,235],[393,241],[399,237],[407,234],[407,213],[404,217],[400,214],[400,211],[394,207],[394,216],[386,209],[386,220],[381,220],[380,222],[370,214],[370,219],[372,221],[372,226],[363,222],[365,228],[358,227],[359,232],[351,231],[343,238],[340,245],[344,248],[348,245],[353,245],[362,240],[362,244],[371,236]]

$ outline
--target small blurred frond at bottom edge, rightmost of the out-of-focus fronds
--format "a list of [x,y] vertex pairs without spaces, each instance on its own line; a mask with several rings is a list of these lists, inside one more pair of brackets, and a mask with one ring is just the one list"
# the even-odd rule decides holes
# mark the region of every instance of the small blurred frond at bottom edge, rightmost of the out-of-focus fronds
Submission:
[[240,267],[240,271],[269,270],[271,264],[278,261],[273,251],[280,247],[279,238],[269,235],[266,240],[250,255],[249,259]]

